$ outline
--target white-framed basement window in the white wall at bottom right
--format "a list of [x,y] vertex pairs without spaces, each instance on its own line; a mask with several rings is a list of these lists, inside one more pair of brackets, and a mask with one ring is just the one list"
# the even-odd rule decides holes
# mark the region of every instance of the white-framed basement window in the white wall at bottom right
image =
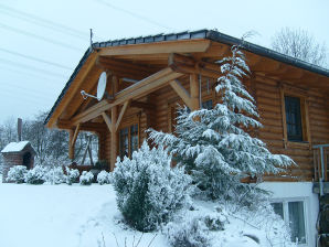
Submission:
[[274,212],[290,227],[291,241],[306,244],[306,222],[304,201],[272,203]]

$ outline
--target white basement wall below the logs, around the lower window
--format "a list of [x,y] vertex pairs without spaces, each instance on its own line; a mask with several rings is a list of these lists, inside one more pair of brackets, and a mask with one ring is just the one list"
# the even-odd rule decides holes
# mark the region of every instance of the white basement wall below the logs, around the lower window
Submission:
[[305,202],[306,230],[308,235],[309,247],[316,246],[317,237],[317,218],[319,213],[318,194],[312,193],[311,182],[264,182],[259,185],[262,189],[273,193],[272,198],[279,201],[280,198],[303,200]]

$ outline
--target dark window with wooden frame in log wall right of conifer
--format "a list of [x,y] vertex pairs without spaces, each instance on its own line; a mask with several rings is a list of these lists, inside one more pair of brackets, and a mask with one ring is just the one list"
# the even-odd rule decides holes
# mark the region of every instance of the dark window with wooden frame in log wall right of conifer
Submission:
[[282,85],[280,95],[285,148],[309,147],[307,92]]

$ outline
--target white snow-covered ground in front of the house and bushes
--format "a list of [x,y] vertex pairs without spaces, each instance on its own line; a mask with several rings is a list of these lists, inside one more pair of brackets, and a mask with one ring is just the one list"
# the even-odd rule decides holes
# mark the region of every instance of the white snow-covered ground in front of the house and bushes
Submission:
[[[130,247],[141,237],[139,232],[120,223],[112,185],[0,183],[0,196],[1,247]],[[195,213],[189,212],[185,217],[213,214],[214,205],[199,202],[195,208]],[[266,230],[255,227],[259,223],[240,217],[230,216],[225,230],[212,233],[213,246],[268,246]],[[155,236],[155,233],[144,234],[138,246],[149,246]],[[248,236],[256,236],[259,245]],[[169,244],[158,233],[150,246],[168,247]]]

